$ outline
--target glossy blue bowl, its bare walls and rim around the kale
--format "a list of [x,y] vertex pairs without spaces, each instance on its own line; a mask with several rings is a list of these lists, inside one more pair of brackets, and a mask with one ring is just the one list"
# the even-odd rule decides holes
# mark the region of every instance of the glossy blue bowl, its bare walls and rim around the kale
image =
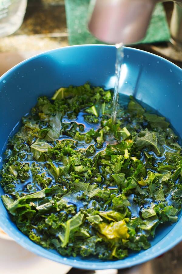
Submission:
[[[158,111],[182,138],[182,69],[154,54],[125,48],[120,93]],[[35,105],[37,97],[52,96],[61,86],[82,85],[113,88],[116,49],[107,45],[64,47],[39,54],[10,69],[0,78],[0,152],[9,135],[16,132],[23,115]],[[0,168],[2,161],[0,161]],[[3,194],[2,188],[0,189]],[[35,244],[18,230],[0,201],[0,227],[20,245],[37,255],[83,269],[118,269],[146,262],[166,252],[182,240],[182,218],[157,230],[151,248],[132,253],[124,260],[64,258],[54,250]]]

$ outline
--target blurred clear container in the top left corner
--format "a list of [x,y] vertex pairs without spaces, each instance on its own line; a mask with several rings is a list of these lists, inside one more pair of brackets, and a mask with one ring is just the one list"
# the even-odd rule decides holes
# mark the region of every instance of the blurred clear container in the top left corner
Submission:
[[0,37],[12,34],[23,22],[27,0],[0,0]]

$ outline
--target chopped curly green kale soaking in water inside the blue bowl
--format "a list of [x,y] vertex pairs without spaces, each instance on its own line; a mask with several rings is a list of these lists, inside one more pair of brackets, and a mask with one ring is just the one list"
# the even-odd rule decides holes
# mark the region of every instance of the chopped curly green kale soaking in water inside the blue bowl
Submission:
[[177,222],[182,150],[133,97],[113,125],[112,92],[85,84],[38,98],[9,140],[2,201],[17,227],[64,256],[123,259]]

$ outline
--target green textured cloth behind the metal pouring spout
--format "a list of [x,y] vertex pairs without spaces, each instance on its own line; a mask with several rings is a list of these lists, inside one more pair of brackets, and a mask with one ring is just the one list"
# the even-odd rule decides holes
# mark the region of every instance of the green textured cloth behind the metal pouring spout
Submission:
[[[69,44],[103,44],[87,30],[87,16],[90,0],[65,0]],[[146,37],[140,43],[168,41],[169,27],[162,3],[153,12]]]

